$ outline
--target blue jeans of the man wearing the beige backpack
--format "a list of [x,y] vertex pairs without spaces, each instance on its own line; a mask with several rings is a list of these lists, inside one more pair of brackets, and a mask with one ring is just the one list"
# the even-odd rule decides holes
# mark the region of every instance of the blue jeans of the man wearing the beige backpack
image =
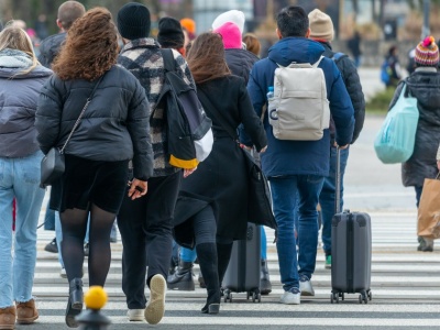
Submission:
[[[271,191],[278,224],[276,248],[284,290],[299,288],[299,275],[311,278],[318,245],[318,197],[323,177],[293,175],[272,177]],[[298,199],[298,200],[297,200]],[[295,242],[295,208],[298,202],[298,256]],[[299,270],[298,270],[299,267]]]

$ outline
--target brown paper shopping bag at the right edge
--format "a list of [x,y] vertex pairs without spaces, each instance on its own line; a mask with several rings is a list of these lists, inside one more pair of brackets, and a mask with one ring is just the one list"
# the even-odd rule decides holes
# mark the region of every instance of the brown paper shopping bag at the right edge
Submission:
[[440,173],[436,179],[425,179],[418,210],[417,235],[432,240],[440,238]]

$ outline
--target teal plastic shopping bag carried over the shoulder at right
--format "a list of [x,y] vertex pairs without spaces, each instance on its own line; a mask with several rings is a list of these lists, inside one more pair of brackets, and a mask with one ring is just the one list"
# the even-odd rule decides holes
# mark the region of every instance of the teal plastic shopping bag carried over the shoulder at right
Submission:
[[414,152],[419,110],[417,99],[405,96],[406,84],[394,107],[388,111],[374,141],[377,157],[384,164],[404,163]]

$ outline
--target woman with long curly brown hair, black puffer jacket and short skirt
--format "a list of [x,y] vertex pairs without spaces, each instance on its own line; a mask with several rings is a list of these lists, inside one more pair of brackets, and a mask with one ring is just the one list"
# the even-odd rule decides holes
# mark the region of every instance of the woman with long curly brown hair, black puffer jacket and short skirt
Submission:
[[[152,175],[150,107],[138,79],[117,66],[118,38],[110,12],[95,8],[75,21],[42,89],[36,112],[44,154],[63,147],[66,169],[52,185],[59,211],[62,254],[69,282],[66,323],[77,327],[82,309],[82,242],[90,215],[89,285],[103,286],[110,267],[110,231],[129,183],[129,197],[144,196]],[[88,107],[85,107],[89,101]],[[131,162],[130,162],[131,161]]]

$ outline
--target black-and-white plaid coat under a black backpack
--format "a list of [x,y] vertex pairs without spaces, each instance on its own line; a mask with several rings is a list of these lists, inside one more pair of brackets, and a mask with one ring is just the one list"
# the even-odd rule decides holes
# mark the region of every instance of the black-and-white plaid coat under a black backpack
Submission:
[[[195,86],[191,73],[185,58],[173,51],[177,67],[187,84]],[[152,109],[150,119],[150,133],[154,152],[153,177],[167,176],[179,170],[169,165],[167,150],[167,130],[164,110],[157,105],[162,87],[165,80],[164,61],[160,45],[151,37],[138,38],[127,43],[118,58],[118,64],[129,69],[145,89],[146,98]]]

